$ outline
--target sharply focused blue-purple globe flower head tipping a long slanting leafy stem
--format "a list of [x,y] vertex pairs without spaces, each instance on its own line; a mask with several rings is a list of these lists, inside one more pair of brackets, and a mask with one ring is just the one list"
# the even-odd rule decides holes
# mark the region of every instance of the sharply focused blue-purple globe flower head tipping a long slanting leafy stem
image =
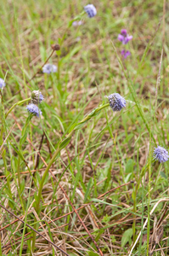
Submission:
[[113,111],[121,111],[122,108],[126,107],[127,102],[125,99],[118,93],[113,93],[108,96],[110,107]]

